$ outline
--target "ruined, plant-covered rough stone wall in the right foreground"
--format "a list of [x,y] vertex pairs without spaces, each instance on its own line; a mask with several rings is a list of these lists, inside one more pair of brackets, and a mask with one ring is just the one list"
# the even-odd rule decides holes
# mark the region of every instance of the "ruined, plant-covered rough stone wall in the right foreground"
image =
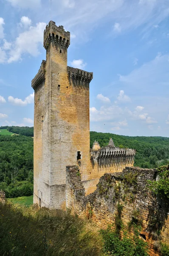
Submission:
[[148,242],[149,255],[159,256],[159,242],[169,244],[169,207],[149,190],[147,180],[156,179],[156,170],[127,167],[122,173],[105,174],[96,191],[87,196],[78,173],[76,166],[67,166],[67,207],[79,216],[91,218],[101,228],[107,228],[119,214],[118,204],[122,205],[124,229],[132,236],[132,222],[139,222],[140,237]]

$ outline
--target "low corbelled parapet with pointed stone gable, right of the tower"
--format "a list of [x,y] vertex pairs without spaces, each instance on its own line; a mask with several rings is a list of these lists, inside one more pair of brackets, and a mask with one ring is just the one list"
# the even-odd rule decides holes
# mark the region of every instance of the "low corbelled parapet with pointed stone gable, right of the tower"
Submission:
[[102,147],[99,150],[91,150],[91,157],[94,159],[134,155],[135,149],[115,147],[112,139],[110,139],[109,144],[106,147]]

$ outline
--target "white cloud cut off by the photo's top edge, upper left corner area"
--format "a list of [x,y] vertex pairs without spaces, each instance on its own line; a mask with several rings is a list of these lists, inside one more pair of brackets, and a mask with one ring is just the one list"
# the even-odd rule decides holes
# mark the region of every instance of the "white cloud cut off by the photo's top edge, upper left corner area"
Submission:
[[40,6],[41,0],[7,0],[12,6],[18,6],[21,8],[32,8]]

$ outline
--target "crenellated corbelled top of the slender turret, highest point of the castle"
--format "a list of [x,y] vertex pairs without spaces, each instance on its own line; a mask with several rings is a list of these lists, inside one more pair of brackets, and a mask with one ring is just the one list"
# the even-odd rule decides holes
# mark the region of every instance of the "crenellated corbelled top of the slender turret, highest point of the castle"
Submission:
[[52,20],[44,30],[43,46],[46,50],[51,42],[60,48],[68,48],[70,45],[70,32],[66,32],[63,26],[56,26],[56,23]]

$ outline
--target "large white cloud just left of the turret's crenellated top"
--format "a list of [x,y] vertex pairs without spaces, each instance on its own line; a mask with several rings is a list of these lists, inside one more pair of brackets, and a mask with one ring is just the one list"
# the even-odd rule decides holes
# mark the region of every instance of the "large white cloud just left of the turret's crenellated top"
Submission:
[[45,26],[46,23],[39,22],[36,26],[30,26],[28,30],[20,33],[9,52],[8,63],[20,60],[25,53],[34,57],[39,55],[38,47],[43,42]]

